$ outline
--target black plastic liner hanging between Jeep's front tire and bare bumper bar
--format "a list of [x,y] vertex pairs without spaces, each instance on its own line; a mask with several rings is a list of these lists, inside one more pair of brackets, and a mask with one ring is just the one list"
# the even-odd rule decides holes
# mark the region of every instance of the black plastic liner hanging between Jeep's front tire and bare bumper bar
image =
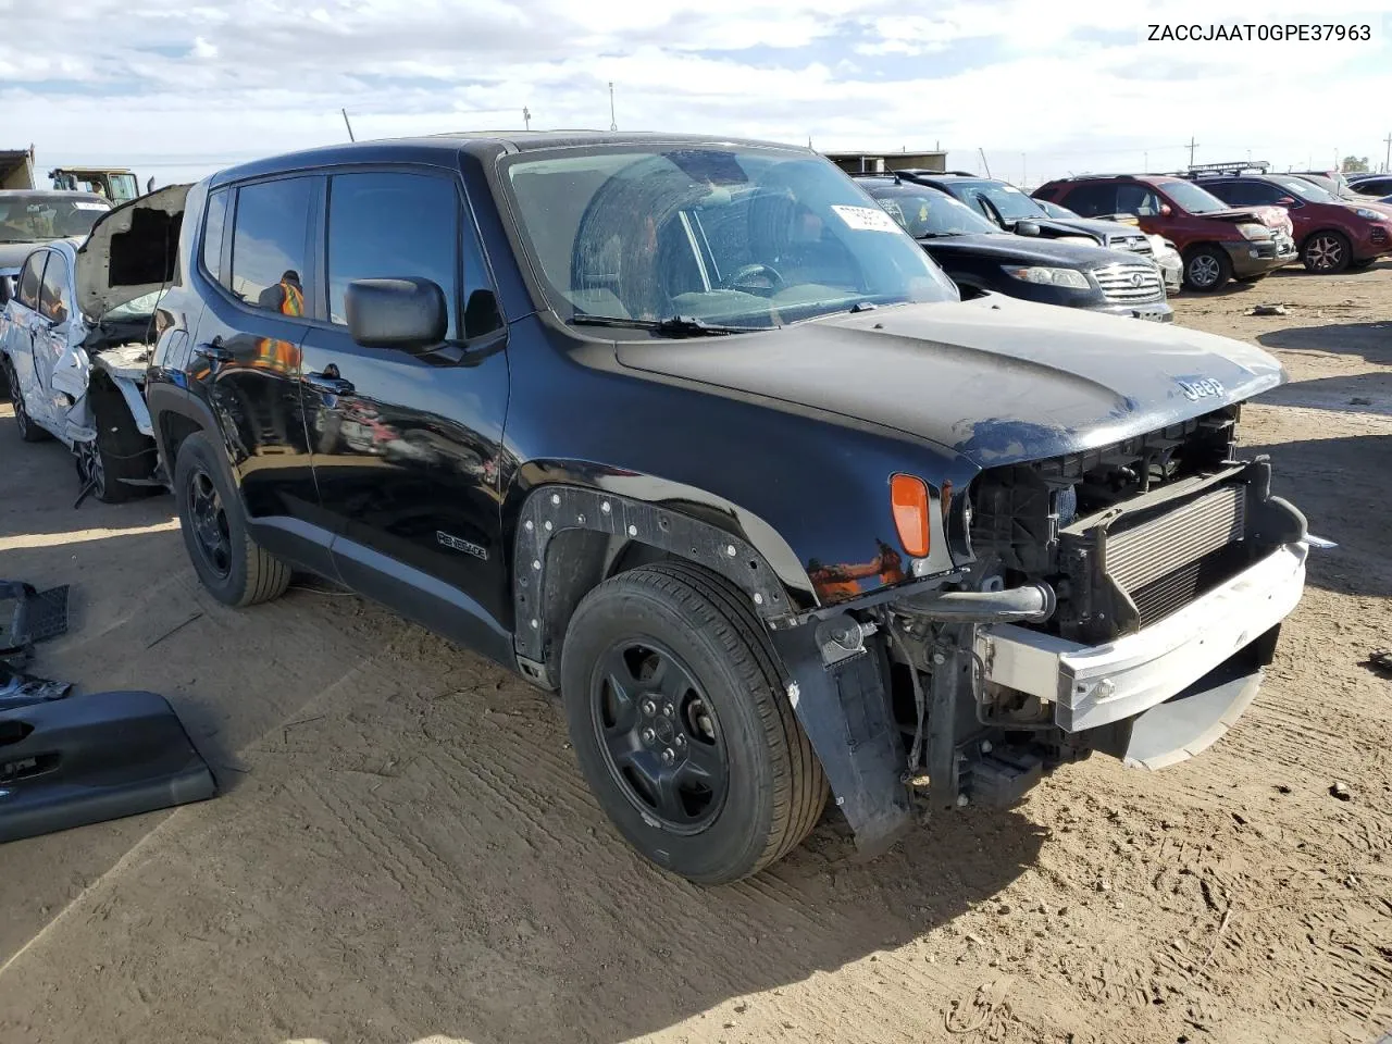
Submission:
[[831,784],[831,793],[874,856],[913,825],[903,784],[903,741],[874,650],[824,667],[813,628],[774,631],[774,647],[792,675],[789,700]]

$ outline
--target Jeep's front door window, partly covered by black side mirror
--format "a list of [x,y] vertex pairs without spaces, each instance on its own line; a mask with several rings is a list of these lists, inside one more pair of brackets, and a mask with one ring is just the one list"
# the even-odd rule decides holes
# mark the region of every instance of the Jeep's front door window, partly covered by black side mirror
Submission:
[[429,174],[338,174],[329,184],[329,319],[348,324],[344,295],[365,278],[433,280],[459,337],[459,196]]

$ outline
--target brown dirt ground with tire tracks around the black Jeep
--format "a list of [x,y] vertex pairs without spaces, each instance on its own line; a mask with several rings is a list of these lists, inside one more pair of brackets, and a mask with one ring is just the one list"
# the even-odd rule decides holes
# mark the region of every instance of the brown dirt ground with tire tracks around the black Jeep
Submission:
[[74,511],[64,451],[4,412],[0,575],[74,585],[35,670],[166,693],[227,791],[0,848],[0,1041],[1373,1041],[1392,263],[1176,306],[1289,367],[1244,441],[1340,544],[1253,709],[1197,760],[1093,759],[870,863],[828,814],[714,891],[619,842],[547,696],[310,580],[220,607],[168,497]]

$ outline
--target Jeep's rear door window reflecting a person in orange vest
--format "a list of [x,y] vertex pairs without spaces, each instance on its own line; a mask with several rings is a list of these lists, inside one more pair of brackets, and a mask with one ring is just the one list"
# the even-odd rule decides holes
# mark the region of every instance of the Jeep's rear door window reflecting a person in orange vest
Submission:
[[237,191],[232,271],[224,278],[248,305],[305,313],[305,238],[313,178],[284,178],[242,185]]

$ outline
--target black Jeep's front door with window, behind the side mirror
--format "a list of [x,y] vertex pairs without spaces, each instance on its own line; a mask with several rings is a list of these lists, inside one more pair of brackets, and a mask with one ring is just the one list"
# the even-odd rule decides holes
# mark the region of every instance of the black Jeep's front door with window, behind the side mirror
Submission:
[[[327,199],[320,292],[330,322],[305,337],[301,395],[338,571],[406,615],[434,614],[425,622],[459,640],[493,642],[511,626],[498,521],[508,359],[469,351],[503,330],[496,306],[482,330],[466,323],[480,310],[459,308],[483,278],[462,193],[438,173],[377,170],[335,174]],[[379,277],[440,285],[450,326],[438,351],[354,342],[344,291]]]

